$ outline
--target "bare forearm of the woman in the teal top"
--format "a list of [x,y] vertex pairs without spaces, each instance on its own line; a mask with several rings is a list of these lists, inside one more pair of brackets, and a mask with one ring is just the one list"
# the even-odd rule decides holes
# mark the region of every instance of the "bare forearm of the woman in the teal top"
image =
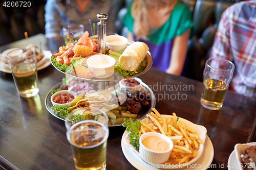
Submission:
[[184,34],[174,38],[172,56],[169,67],[165,72],[172,75],[180,76],[187,54],[187,40],[189,39],[190,29]]

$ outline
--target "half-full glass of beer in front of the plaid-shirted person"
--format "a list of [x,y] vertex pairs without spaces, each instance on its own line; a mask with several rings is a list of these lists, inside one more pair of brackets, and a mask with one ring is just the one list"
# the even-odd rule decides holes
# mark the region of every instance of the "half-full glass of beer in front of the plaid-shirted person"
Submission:
[[219,110],[232,79],[234,64],[222,59],[208,59],[204,68],[201,105],[210,110]]

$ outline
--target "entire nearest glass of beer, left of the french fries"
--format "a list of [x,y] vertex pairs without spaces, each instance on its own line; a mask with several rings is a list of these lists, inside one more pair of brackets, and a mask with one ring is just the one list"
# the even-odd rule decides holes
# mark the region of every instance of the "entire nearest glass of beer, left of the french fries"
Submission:
[[65,120],[76,169],[106,169],[108,116],[98,108],[79,108]]

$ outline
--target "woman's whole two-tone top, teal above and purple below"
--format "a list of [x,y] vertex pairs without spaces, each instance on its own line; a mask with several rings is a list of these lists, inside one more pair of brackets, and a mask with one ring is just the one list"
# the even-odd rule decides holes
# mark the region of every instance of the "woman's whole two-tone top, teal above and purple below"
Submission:
[[[131,15],[131,6],[127,10],[124,18],[124,26],[133,34],[133,17]],[[165,71],[172,57],[172,48],[174,37],[179,36],[191,28],[190,36],[194,34],[194,23],[191,21],[190,11],[181,2],[177,2],[169,19],[159,29],[150,30],[150,35],[147,39],[138,41],[145,42],[150,48],[150,53],[153,58],[152,67]],[[134,37],[135,39],[135,37]],[[187,64],[185,61],[184,68]],[[183,69],[184,69],[183,68]],[[183,74],[182,74],[183,75]]]

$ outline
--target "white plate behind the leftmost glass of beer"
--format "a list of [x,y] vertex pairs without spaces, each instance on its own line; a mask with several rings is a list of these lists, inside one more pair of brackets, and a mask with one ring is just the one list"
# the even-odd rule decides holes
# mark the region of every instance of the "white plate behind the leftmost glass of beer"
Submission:
[[[43,58],[44,61],[43,63],[38,62],[39,66],[37,66],[37,70],[44,69],[51,64],[52,53],[50,51],[45,51],[45,52],[46,52],[45,57]],[[9,68],[9,65],[2,61],[2,54],[0,54],[0,71],[12,73],[12,71]]]

